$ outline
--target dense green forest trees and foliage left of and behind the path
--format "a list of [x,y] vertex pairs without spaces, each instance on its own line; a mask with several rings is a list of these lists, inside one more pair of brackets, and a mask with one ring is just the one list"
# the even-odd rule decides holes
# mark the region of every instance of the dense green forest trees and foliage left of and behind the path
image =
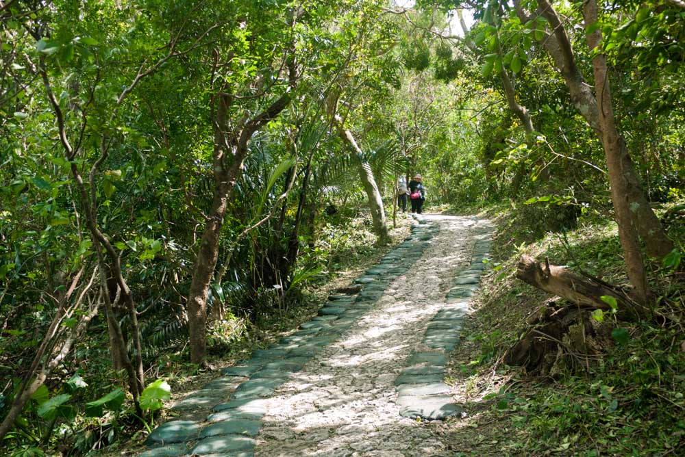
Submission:
[[[543,1],[416,3],[0,1],[0,449],[86,454],[149,428],[172,367],[298,306],[368,232],[386,241],[400,174],[432,205],[509,207],[517,245],[620,215],[608,127],[545,47]],[[655,256],[638,233],[645,306],[681,316],[664,283],[684,250],[685,9],[553,7],[584,87],[606,56],[615,130],[673,244]],[[645,348],[673,331],[654,324]]]

